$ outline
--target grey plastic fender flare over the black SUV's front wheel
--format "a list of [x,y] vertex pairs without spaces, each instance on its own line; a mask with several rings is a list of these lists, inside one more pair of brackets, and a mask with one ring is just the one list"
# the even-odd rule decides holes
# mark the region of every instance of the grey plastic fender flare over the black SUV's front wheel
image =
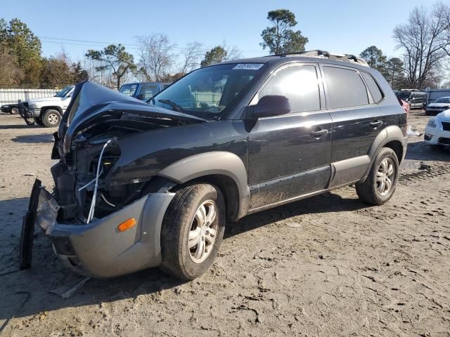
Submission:
[[184,184],[189,180],[203,176],[227,176],[236,183],[239,193],[239,209],[237,218],[248,213],[250,207],[250,187],[248,186],[247,169],[236,154],[226,151],[213,151],[186,157],[162,169],[158,176]]

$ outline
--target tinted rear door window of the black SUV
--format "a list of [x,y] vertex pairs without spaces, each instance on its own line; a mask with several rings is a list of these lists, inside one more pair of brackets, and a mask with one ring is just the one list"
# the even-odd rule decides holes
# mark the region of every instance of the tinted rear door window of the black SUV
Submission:
[[356,70],[325,66],[323,72],[328,86],[328,108],[368,105],[366,86]]

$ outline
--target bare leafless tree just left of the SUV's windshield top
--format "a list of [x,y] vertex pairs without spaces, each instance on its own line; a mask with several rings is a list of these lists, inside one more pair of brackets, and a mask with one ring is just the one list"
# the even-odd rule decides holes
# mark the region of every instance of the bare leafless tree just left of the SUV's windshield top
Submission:
[[165,33],[137,37],[139,44],[138,69],[146,81],[161,81],[174,63],[176,44]]

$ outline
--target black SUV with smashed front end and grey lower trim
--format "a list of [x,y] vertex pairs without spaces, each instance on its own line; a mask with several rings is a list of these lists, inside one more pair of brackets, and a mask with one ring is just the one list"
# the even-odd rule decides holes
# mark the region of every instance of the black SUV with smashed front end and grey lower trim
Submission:
[[384,204],[405,130],[387,81],[353,55],[222,62],[149,103],[77,84],[54,135],[54,190],[37,180],[32,191],[22,261],[37,223],[83,275],[159,266],[194,279],[227,220],[353,184],[362,201]]

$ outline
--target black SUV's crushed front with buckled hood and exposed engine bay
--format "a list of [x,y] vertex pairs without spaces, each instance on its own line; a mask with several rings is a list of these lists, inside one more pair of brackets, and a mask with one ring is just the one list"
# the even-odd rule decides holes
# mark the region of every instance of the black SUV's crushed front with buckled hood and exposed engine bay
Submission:
[[[60,206],[58,222],[86,224],[160,190],[167,184],[161,177],[130,178],[124,174],[126,165],[117,167],[127,150],[122,149],[121,140],[136,133],[202,122],[198,117],[151,107],[91,82],[78,84],[53,135],[52,159],[60,159],[51,168],[54,196]],[[129,163],[135,168],[139,164],[139,159]]]

